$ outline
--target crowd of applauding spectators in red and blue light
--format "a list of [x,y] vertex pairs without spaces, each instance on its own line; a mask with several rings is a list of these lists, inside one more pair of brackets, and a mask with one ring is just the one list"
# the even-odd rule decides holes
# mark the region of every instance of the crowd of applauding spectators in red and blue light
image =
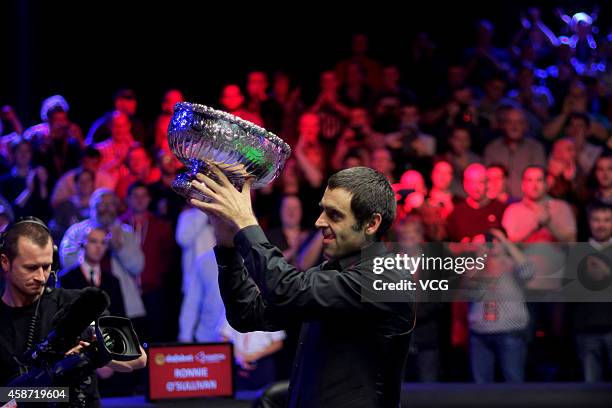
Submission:
[[[317,264],[322,237],[313,229],[327,178],[369,166],[397,193],[389,241],[414,254],[429,242],[460,244],[456,253],[500,243],[491,273],[522,282],[507,282],[508,290],[559,284],[547,272],[555,265],[530,260],[530,251],[554,258],[558,246],[545,244],[610,251],[612,53],[590,26],[576,25],[557,37],[530,9],[511,44],[495,44],[494,25],[483,20],[459,56],[442,55],[421,32],[396,61],[376,60],[368,37],[357,34],[350,56],[319,73],[311,101],[281,71],[225,84],[217,108],[293,150],[279,178],[254,196],[270,240],[298,268]],[[183,100],[180,90],[167,91],[150,124],[131,89],[118,90],[92,124],[74,123],[60,95],[43,102],[41,123],[31,127],[5,106],[0,224],[22,215],[48,222],[61,242],[64,285],[105,288],[114,312],[133,319],[147,341],[237,342],[240,378],[259,387],[261,378],[288,375],[296,328],[245,336],[223,321],[207,216],[171,189],[182,165],[166,129]],[[524,243],[542,245],[520,249]],[[407,378],[489,382],[497,365],[505,381],[600,381],[612,370],[604,363],[612,363],[612,309],[579,305],[423,306]]]

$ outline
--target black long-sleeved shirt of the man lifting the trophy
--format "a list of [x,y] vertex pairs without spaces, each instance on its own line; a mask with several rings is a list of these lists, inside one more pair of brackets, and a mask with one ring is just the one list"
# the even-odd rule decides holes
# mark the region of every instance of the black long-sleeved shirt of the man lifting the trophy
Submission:
[[289,388],[290,407],[398,407],[414,326],[414,303],[372,301],[377,279],[399,282],[408,272],[375,275],[382,243],[300,272],[259,226],[242,229],[235,248],[217,246],[219,287],[227,319],[238,331],[280,330],[302,323]]

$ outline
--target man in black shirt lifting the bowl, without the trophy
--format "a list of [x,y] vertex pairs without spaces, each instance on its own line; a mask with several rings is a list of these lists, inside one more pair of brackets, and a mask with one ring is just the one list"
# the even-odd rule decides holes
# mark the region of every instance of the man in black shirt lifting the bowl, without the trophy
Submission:
[[414,304],[410,297],[382,300],[381,293],[364,299],[376,279],[407,278],[396,268],[373,273],[374,259],[387,256],[380,238],[396,210],[385,176],[354,167],[329,179],[315,223],[328,260],[300,272],[258,225],[251,208],[252,179],[240,192],[219,169],[214,172],[218,182],[202,174],[194,181],[212,201],[191,203],[214,223],[229,323],[248,332],[303,322],[288,405],[397,407]]

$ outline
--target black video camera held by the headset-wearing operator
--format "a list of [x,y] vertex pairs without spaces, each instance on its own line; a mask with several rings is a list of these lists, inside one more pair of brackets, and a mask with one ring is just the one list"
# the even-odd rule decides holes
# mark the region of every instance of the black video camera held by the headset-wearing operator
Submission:
[[[132,322],[123,317],[103,316],[108,295],[86,288],[54,317],[54,329],[18,359],[21,375],[12,387],[66,385],[71,379],[91,374],[111,360],[131,361],[140,357],[138,336]],[[92,327],[91,323],[95,322]],[[93,329],[93,330],[92,330]],[[87,333],[83,336],[83,333]],[[78,353],[66,353],[79,344],[90,344]]]

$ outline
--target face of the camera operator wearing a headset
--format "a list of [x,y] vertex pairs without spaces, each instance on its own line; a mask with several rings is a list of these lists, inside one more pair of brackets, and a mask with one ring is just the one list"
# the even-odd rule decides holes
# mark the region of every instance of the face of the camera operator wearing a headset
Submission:
[[13,261],[2,254],[0,262],[5,271],[5,292],[10,291],[13,296],[29,301],[36,300],[51,274],[53,242],[49,239],[41,248],[29,238],[21,236],[17,240],[17,254]]

